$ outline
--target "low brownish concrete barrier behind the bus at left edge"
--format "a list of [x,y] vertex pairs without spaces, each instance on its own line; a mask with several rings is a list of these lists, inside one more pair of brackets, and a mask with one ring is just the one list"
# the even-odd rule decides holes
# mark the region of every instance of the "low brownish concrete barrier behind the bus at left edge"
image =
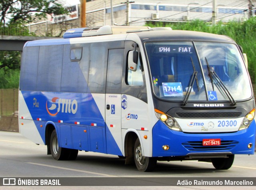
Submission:
[[0,130],[19,132],[18,117],[15,117],[15,116],[0,117]]

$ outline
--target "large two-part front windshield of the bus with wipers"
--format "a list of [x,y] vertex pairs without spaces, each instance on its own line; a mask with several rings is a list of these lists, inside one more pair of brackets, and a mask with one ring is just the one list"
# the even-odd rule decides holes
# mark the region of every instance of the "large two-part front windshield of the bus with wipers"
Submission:
[[235,44],[147,42],[145,47],[154,94],[160,99],[241,101],[252,96],[250,79]]

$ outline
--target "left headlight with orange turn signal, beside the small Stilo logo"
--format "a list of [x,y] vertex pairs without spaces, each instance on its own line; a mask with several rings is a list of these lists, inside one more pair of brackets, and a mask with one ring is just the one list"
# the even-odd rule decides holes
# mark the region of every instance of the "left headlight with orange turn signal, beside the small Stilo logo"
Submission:
[[178,123],[175,121],[174,118],[172,118],[170,115],[167,115],[166,113],[155,109],[156,117],[160,119],[169,129],[175,130],[175,131],[182,131]]

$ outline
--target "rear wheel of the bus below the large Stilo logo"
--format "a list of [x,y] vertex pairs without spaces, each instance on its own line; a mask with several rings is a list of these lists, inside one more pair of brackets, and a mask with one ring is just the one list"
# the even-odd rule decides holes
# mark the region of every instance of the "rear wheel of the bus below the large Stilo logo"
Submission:
[[70,149],[68,148],[62,148],[58,145],[58,137],[56,130],[54,129],[52,131],[51,139],[50,139],[50,148],[51,148],[51,154],[52,158],[54,160],[68,160],[70,157]]

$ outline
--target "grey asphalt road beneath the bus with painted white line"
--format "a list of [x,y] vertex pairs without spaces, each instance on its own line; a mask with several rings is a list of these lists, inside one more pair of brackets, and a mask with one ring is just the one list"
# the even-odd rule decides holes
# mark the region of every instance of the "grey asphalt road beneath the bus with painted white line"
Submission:
[[[56,161],[46,155],[46,146],[36,145],[19,133],[0,131],[0,177],[256,177],[256,155],[236,155],[229,170],[216,170],[211,163],[197,161],[159,162],[153,172],[139,172],[135,165],[125,165],[125,160],[110,154],[79,151],[76,160]],[[0,189],[8,189],[1,187]],[[10,187],[27,189],[26,187]],[[30,187],[32,188],[32,187]],[[35,188],[35,187],[34,187]],[[37,189],[40,187],[36,187]],[[42,189],[52,187],[44,187]],[[55,187],[60,188],[60,187]],[[61,189],[63,189],[62,187]],[[67,189],[74,187],[67,187]],[[77,187],[83,188],[83,187]],[[164,189],[163,187],[158,187]],[[172,189],[216,189],[218,187],[172,186]],[[228,189],[223,187],[222,189]],[[240,189],[235,186],[233,189]],[[256,189],[256,187],[246,187]],[[64,188],[65,189],[65,188]],[[90,189],[120,189],[120,187],[91,186]],[[121,188],[123,189],[123,187]],[[145,189],[145,187],[126,186],[125,189]],[[157,189],[149,186],[147,189]],[[170,189],[170,188],[166,188]]]

